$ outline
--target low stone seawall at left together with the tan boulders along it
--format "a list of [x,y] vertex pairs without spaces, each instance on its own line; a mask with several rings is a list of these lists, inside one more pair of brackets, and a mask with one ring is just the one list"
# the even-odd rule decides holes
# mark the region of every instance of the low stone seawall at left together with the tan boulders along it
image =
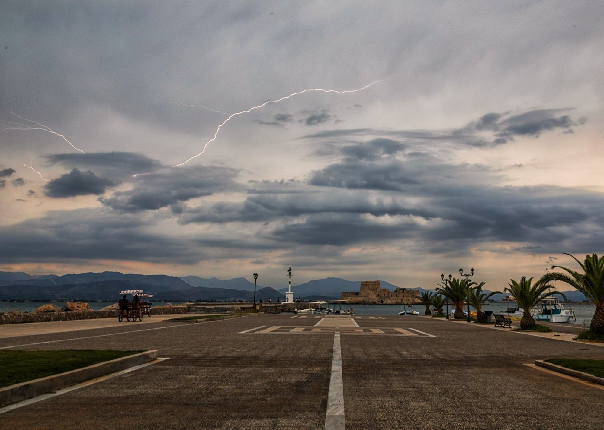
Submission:
[[[152,315],[186,314],[188,306],[152,306]],[[48,321],[92,320],[95,318],[117,318],[120,314],[117,303],[100,311],[91,311],[88,303],[67,302],[65,310],[52,303],[42,305],[35,312],[0,312],[0,324],[45,323]]]

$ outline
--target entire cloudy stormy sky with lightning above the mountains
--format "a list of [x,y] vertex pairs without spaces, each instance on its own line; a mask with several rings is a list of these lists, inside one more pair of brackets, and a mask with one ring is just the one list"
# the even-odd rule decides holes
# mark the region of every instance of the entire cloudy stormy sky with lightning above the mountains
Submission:
[[603,42],[591,1],[4,1],[0,270],[501,289],[602,253]]

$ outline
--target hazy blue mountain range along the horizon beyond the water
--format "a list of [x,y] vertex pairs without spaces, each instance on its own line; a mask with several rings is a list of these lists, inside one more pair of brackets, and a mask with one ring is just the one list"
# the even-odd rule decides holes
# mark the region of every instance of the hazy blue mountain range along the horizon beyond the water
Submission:
[[[380,280],[382,288],[391,291],[397,288]],[[292,285],[294,297],[302,300],[330,299],[336,300],[344,291],[359,291],[361,281],[328,277],[315,279],[300,285]],[[118,292],[123,289],[143,289],[153,294],[154,300],[252,300],[254,283],[243,277],[233,279],[202,278],[199,276],[167,276],[123,274],[105,271],[102,273],[77,273],[57,276],[48,274],[32,276],[24,272],[0,271],[0,300],[116,300]],[[432,291],[423,288],[420,292]],[[270,286],[256,286],[256,300],[285,299],[288,288],[278,291]],[[565,291],[567,299],[582,302],[585,296],[579,291]],[[506,296],[496,294],[492,300],[501,300]]]

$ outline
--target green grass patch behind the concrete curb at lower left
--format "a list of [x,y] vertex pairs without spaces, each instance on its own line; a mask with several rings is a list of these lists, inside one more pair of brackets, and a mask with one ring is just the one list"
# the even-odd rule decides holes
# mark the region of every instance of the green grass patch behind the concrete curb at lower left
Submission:
[[0,350],[0,387],[69,372],[143,351],[116,350]]

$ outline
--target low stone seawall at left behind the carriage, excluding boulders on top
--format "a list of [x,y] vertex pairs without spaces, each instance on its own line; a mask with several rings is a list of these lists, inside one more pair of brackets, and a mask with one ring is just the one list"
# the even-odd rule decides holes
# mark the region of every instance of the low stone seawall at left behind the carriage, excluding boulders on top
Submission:
[[[152,306],[152,315],[186,314],[188,306]],[[0,313],[0,324],[47,323],[49,321],[94,320],[95,318],[117,318],[120,311],[71,311],[71,312],[19,312]]]

